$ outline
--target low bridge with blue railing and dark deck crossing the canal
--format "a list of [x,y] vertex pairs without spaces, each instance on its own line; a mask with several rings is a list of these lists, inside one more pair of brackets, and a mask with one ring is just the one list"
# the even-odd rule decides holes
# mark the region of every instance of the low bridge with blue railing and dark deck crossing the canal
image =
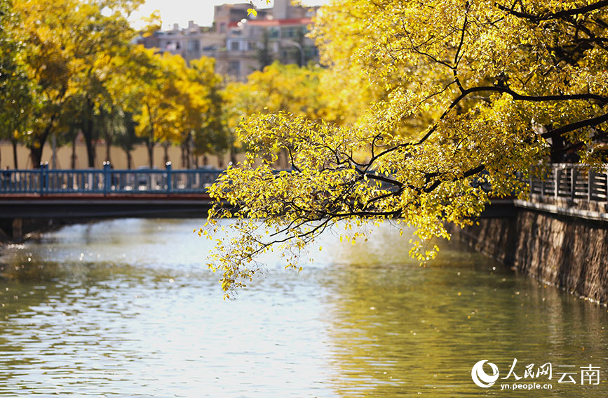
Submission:
[[205,217],[222,170],[4,170],[0,218]]

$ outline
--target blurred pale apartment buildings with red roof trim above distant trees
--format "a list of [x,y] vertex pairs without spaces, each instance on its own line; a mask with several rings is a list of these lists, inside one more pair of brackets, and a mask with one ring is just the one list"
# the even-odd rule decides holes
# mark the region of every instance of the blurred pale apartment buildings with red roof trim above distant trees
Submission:
[[247,13],[248,3],[215,6],[212,27],[194,21],[186,28],[175,24],[139,42],[187,61],[203,55],[215,58],[216,72],[239,81],[273,60],[299,65],[318,61],[316,47],[306,37],[317,8],[293,6],[290,0],[273,3],[273,8],[258,10],[255,18]]

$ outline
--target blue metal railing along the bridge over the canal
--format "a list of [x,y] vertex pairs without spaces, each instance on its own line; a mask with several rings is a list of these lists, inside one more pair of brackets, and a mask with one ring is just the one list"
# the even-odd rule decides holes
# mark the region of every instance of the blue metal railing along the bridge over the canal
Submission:
[[177,194],[205,193],[223,170],[151,168],[51,170],[48,164],[32,170],[0,171],[0,194]]

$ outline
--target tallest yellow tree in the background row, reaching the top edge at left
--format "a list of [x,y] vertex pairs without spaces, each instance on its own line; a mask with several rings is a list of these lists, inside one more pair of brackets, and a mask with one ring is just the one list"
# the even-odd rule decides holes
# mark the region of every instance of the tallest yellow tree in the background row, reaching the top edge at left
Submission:
[[[33,166],[39,164],[50,134],[67,131],[69,126],[65,122],[74,122],[76,105],[82,108],[83,132],[93,129],[103,82],[109,74],[104,65],[120,51],[119,47],[124,49],[133,39],[135,34],[126,18],[141,3],[139,0],[15,2],[15,12],[22,19],[15,34],[25,44],[22,57],[36,99],[29,110],[31,123],[23,134]],[[70,117],[66,116],[66,108]],[[89,145],[90,159],[91,151]]]

